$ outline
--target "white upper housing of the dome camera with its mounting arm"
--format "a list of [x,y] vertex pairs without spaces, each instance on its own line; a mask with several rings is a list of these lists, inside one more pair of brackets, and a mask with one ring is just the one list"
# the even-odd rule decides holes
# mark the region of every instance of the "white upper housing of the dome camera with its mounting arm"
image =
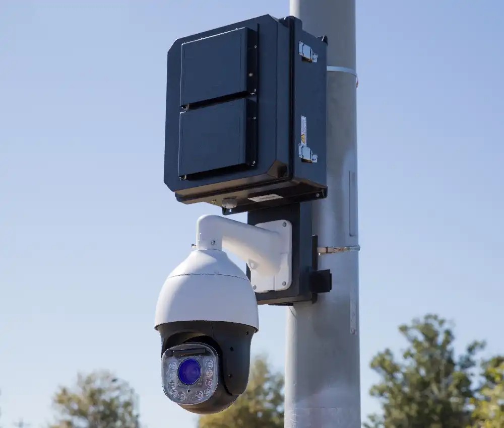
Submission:
[[196,248],[166,279],[155,326],[177,321],[223,321],[259,330],[256,295],[245,273],[222,251],[245,260],[256,292],[284,290],[292,282],[292,226],[275,221],[251,226],[202,216]]

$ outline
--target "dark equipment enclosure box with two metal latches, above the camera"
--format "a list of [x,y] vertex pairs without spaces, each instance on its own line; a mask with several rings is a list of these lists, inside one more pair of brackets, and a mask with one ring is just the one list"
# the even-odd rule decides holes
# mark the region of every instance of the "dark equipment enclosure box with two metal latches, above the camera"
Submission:
[[326,42],[269,15],[168,51],[164,182],[225,214],[324,198]]

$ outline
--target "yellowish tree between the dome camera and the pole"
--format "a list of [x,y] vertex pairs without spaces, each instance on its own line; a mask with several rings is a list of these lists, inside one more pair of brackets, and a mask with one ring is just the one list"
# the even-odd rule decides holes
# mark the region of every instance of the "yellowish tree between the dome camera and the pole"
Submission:
[[245,392],[226,410],[201,416],[198,428],[283,428],[283,376],[264,355],[254,359]]

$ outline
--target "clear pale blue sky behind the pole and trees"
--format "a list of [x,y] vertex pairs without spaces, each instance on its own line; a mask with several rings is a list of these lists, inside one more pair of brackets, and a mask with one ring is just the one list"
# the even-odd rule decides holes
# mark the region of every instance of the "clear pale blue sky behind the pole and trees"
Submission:
[[[287,0],[0,2],[0,422],[107,368],[149,428],[194,426],[159,379],[154,309],[195,222],[163,184],[166,51]],[[426,312],[504,352],[504,2],[359,1],[362,412],[367,365]],[[334,64],[337,65],[337,64]],[[244,220],[244,216],[238,216]],[[255,352],[284,365],[285,309]]]

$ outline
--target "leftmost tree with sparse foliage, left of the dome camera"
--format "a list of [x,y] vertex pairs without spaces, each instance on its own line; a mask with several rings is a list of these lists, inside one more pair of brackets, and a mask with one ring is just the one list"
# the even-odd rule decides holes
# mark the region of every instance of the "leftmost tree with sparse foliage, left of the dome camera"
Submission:
[[60,387],[51,428],[138,428],[138,398],[130,385],[108,371],[79,374],[75,387]]

